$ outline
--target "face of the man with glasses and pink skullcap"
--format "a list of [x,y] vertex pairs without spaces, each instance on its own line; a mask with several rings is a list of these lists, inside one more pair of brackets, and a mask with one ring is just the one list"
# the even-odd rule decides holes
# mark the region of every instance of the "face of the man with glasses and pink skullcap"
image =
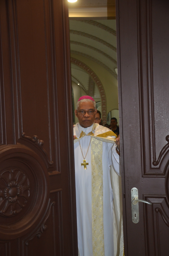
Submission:
[[[86,111],[84,115],[80,115],[78,111]],[[96,114],[96,109],[94,108],[94,105],[92,102],[81,102],[79,105],[79,108],[75,110],[75,115],[79,119],[79,124],[87,128],[91,126],[94,123],[95,120],[95,114]],[[94,111],[93,115],[89,115],[87,111]]]

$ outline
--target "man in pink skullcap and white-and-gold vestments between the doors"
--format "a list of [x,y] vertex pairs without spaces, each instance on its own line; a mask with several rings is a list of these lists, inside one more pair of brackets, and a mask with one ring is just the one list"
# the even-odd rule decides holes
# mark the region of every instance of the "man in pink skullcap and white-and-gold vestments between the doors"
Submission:
[[113,256],[110,166],[119,175],[119,154],[116,135],[94,123],[94,103],[92,97],[83,96],[75,110],[79,119],[74,126],[78,249],[80,256]]

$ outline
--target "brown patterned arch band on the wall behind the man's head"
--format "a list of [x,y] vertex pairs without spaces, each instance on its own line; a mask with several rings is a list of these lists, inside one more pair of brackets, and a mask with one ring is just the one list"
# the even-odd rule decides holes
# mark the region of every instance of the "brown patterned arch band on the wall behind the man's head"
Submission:
[[102,107],[102,120],[103,120],[103,124],[106,123],[106,118],[107,118],[107,112],[106,112],[106,95],[105,95],[105,91],[103,88],[102,83],[100,82],[99,78],[97,77],[97,75],[93,72],[92,69],[90,69],[86,64],[84,64],[83,62],[75,59],[75,58],[70,58],[70,62],[74,63],[75,65],[83,68],[90,76],[91,78],[95,81],[96,85],[99,88],[100,91],[100,97],[101,97],[101,107]]

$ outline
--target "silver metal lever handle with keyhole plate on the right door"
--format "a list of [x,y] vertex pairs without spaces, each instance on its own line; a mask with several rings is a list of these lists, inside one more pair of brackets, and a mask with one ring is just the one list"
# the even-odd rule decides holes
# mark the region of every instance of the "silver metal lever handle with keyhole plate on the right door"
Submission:
[[135,224],[139,222],[139,204],[138,204],[138,202],[152,204],[146,200],[138,199],[138,189],[132,188],[131,189],[132,222]]

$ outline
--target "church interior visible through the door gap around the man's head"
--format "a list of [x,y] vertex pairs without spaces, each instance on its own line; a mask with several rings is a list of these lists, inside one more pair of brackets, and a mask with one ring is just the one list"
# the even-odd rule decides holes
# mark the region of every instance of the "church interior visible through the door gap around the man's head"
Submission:
[[[73,122],[77,100],[92,96],[103,125],[119,120],[115,1],[69,3]],[[119,121],[118,121],[119,124]]]

